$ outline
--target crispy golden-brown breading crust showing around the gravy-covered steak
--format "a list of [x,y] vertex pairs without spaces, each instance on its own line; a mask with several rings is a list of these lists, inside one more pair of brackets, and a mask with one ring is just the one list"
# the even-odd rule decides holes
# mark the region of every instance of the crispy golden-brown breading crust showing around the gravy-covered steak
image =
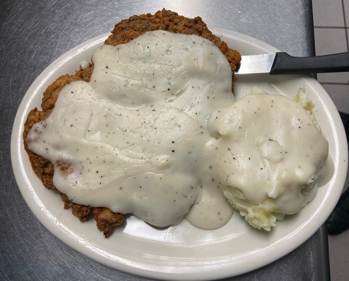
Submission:
[[[241,56],[237,51],[229,49],[227,44],[222,42],[219,37],[213,35],[212,32],[207,29],[206,24],[200,17],[190,19],[165,9],[156,12],[154,15],[134,15],[116,24],[111,35],[105,41],[105,44],[124,44],[135,39],[146,31],[153,30],[167,30],[174,33],[196,34],[212,41],[221,49],[222,53],[230,63],[233,73],[232,89],[234,89],[234,82],[236,80],[234,70],[236,70],[241,60]],[[32,164],[32,169],[36,176],[41,179],[44,186],[60,194],[62,196],[64,208],[72,208],[72,213],[77,216],[81,222],[84,222],[91,212],[94,213],[97,228],[100,231],[103,231],[104,236],[108,238],[111,234],[112,227],[119,225],[124,221],[123,215],[114,213],[105,207],[88,207],[70,201],[64,193],[60,192],[53,185],[53,164],[45,158],[30,151],[26,143],[27,135],[33,124],[48,118],[49,114],[52,112],[61,89],[73,81],[80,80],[89,82],[92,71],[93,63],[90,63],[90,66],[85,70],[76,71],[73,75],[62,75],[48,86],[42,99],[42,111],[34,108],[28,114],[27,120],[24,124],[23,140],[24,148],[27,151],[29,160]],[[62,166],[61,169],[64,169],[64,167]]]

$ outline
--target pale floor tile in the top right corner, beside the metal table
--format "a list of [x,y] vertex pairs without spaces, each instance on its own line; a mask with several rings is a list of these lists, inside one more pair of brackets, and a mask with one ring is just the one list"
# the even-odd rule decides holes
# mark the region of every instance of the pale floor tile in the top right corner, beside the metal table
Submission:
[[315,27],[344,27],[342,0],[313,0],[312,3]]

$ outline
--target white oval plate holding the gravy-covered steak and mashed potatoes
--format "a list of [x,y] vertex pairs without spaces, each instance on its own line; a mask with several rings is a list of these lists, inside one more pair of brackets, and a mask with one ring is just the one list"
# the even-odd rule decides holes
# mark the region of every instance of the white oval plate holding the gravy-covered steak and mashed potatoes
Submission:
[[[277,51],[268,44],[237,32],[212,28],[242,55]],[[64,210],[60,196],[43,187],[32,172],[23,147],[22,132],[29,111],[40,108],[44,90],[62,74],[74,74],[82,60],[90,61],[108,34],[73,48],[38,76],[24,96],[13,126],[12,165],[18,187],[34,215],[48,230],[73,249],[113,268],[164,280],[211,280],[236,276],[265,266],[296,249],[325,222],[334,208],[347,173],[347,142],[338,112],[325,90],[310,76],[238,76],[237,98],[260,86],[272,94],[293,97],[304,86],[315,104],[315,116],[330,147],[330,172],[315,199],[298,214],[278,222],[270,233],[249,226],[235,212],[231,221],[214,231],[197,229],[187,221],[157,229],[134,216],[115,228],[109,239],[95,221],[80,223]],[[332,167],[332,168],[331,168]]]

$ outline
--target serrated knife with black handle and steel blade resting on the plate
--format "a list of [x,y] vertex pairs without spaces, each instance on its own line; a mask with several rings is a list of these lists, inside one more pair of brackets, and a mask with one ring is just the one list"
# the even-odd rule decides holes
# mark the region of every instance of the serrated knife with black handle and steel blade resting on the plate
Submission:
[[311,74],[349,71],[349,52],[314,56],[292,57],[285,52],[275,54],[241,56],[236,74],[269,73]]

